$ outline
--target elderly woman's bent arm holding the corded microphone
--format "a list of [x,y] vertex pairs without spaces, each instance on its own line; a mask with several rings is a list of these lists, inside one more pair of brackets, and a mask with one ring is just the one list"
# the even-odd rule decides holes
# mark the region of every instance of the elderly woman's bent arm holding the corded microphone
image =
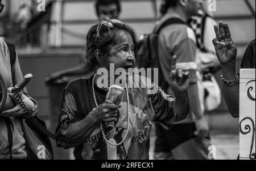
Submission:
[[[63,97],[56,133],[65,136],[65,138],[87,138],[100,125],[100,122],[112,122],[117,117],[119,106],[105,102],[90,112],[85,118],[79,119],[77,117],[76,102],[72,93],[66,90]],[[57,140],[57,146],[65,149],[78,145],[80,144],[69,144]]]

